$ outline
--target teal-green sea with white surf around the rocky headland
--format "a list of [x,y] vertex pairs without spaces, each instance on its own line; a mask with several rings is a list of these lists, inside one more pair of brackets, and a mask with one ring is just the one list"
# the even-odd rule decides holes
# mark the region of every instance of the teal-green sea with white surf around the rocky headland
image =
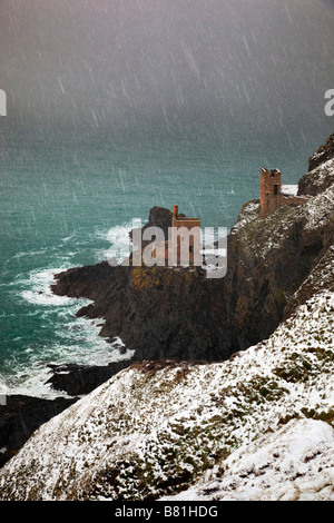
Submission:
[[[154,206],[234,225],[257,198],[262,167],[295,185],[330,132],[2,135],[0,149],[0,396],[52,397],[50,364],[129,358],[99,336],[101,319],[77,318],[84,299],[50,292],[53,275],[108,258],[128,244],[132,219]],[[1,134],[0,134],[1,136]]]

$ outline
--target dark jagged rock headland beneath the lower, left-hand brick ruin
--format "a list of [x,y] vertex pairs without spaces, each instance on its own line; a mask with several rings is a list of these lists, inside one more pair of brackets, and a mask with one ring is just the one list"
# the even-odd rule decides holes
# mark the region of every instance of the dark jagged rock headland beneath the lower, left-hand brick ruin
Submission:
[[99,264],[59,274],[52,285],[56,294],[68,296],[78,295],[80,288],[81,296],[95,302],[78,314],[104,317],[100,335],[119,336],[136,351],[135,359],[212,361],[230,355],[225,351],[222,280],[206,279],[200,268]]

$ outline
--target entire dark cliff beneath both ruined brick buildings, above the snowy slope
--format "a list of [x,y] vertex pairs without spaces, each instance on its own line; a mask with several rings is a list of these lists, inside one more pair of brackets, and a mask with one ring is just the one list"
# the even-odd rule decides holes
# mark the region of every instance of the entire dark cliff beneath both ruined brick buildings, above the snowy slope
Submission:
[[[222,280],[207,279],[202,268],[101,263],[57,275],[53,292],[94,300],[78,314],[105,318],[101,335],[119,336],[139,361],[226,359],[267,338],[312,295],[311,274],[320,275],[332,256],[332,138],[315,155],[317,167],[311,162],[299,181],[299,194],[312,196],[306,204],[281,206],[265,219],[258,217],[258,200],[244,206],[228,237]],[[154,208],[148,225],[166,229],[170,218],[169,210]]]

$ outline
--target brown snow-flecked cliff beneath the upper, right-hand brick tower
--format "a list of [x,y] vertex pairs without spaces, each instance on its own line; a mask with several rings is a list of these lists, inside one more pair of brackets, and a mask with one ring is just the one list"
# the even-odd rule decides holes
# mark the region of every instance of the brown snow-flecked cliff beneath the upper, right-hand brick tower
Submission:
[[[230,233],[224,293],[232,298],[229,319],[232,328],[237,326],[235,345],[240,348],[268,337],[315,287],[333,286],[333,273],[324,284],[321,276],[333,248],[332,161],[325,164],[326,174],[320,166],[303,178],[303,187],[317,187],[307,203],[281,206],[263,220],[258,204],[249,203]],[[314,272],[318,278],[311,283]]]

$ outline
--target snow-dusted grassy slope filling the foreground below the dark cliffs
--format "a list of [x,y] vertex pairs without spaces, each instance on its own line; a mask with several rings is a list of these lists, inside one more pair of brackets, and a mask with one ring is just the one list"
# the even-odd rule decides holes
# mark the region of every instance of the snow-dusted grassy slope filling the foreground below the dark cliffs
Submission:
[[323,292],[228,362],[138,363],[42,425],[0,471],[0,500],[157,500],[197,482],[188,499],[208,484],[333,500],[333,347]]

